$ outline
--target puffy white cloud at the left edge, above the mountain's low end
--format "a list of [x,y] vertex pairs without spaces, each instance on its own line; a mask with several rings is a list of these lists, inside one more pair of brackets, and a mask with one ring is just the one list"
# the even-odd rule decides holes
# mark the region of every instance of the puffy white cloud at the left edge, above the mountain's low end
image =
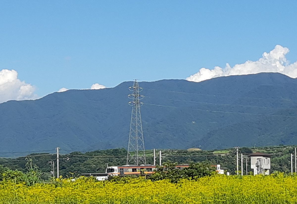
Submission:
[[0,103],[9,100],[36,99],[35,87],[18,79],[15,70],[2,69],[0,71]]

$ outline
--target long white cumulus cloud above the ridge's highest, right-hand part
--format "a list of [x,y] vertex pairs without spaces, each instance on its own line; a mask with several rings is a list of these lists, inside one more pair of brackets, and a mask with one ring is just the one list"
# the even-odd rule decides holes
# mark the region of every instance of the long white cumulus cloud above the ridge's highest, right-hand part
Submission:
[[297,62],[289,63],[285,55],[289,49],[276,45],[269,53],[264,52],[262,58],[257,61],[246,61],[231,67],[228,63],[225,68],[214,67],[214,69],[201,68],[199,72],[187,78],[188,81],[200,82],[219,76],[257,74],[260,72],[278,72],[292,78],[297,77]]

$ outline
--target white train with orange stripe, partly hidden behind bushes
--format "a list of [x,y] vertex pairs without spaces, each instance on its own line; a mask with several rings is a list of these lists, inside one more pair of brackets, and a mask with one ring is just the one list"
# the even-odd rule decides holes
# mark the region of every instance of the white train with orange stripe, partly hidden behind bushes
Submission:
[[[175,168],[183,169],[189,167],[188,164],[176,165]],[[224,174],[224,170],[221,169],[221,165],[211,165],[214,167],[218,174]],[[123,165],[123,166],[108,166],[105,170],[105,173],[82,173],[82,176],[94,176],[97,180],[107,180],[110,176],[126,176],[126,175],[135,175],[135,176],[144,176],[151,175],[155,173],[157,166],[150,164],[142,165]]]

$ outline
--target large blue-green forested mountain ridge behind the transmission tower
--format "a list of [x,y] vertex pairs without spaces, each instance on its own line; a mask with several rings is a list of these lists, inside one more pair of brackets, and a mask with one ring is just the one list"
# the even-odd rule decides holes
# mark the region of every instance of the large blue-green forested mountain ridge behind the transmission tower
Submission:
[[[132,84],[1,103],[0,154],[126,148]],[[139,85],[147,149],[297,144],[297,79],[260,73]]]

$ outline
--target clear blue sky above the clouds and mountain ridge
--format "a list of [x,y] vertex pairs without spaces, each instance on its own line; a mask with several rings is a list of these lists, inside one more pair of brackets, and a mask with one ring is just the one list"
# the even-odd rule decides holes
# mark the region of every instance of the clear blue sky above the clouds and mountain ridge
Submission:
[[297,1],[0,1],[0,70],[43,96],[186,79],[277,44],[296,62],[296,10]]

